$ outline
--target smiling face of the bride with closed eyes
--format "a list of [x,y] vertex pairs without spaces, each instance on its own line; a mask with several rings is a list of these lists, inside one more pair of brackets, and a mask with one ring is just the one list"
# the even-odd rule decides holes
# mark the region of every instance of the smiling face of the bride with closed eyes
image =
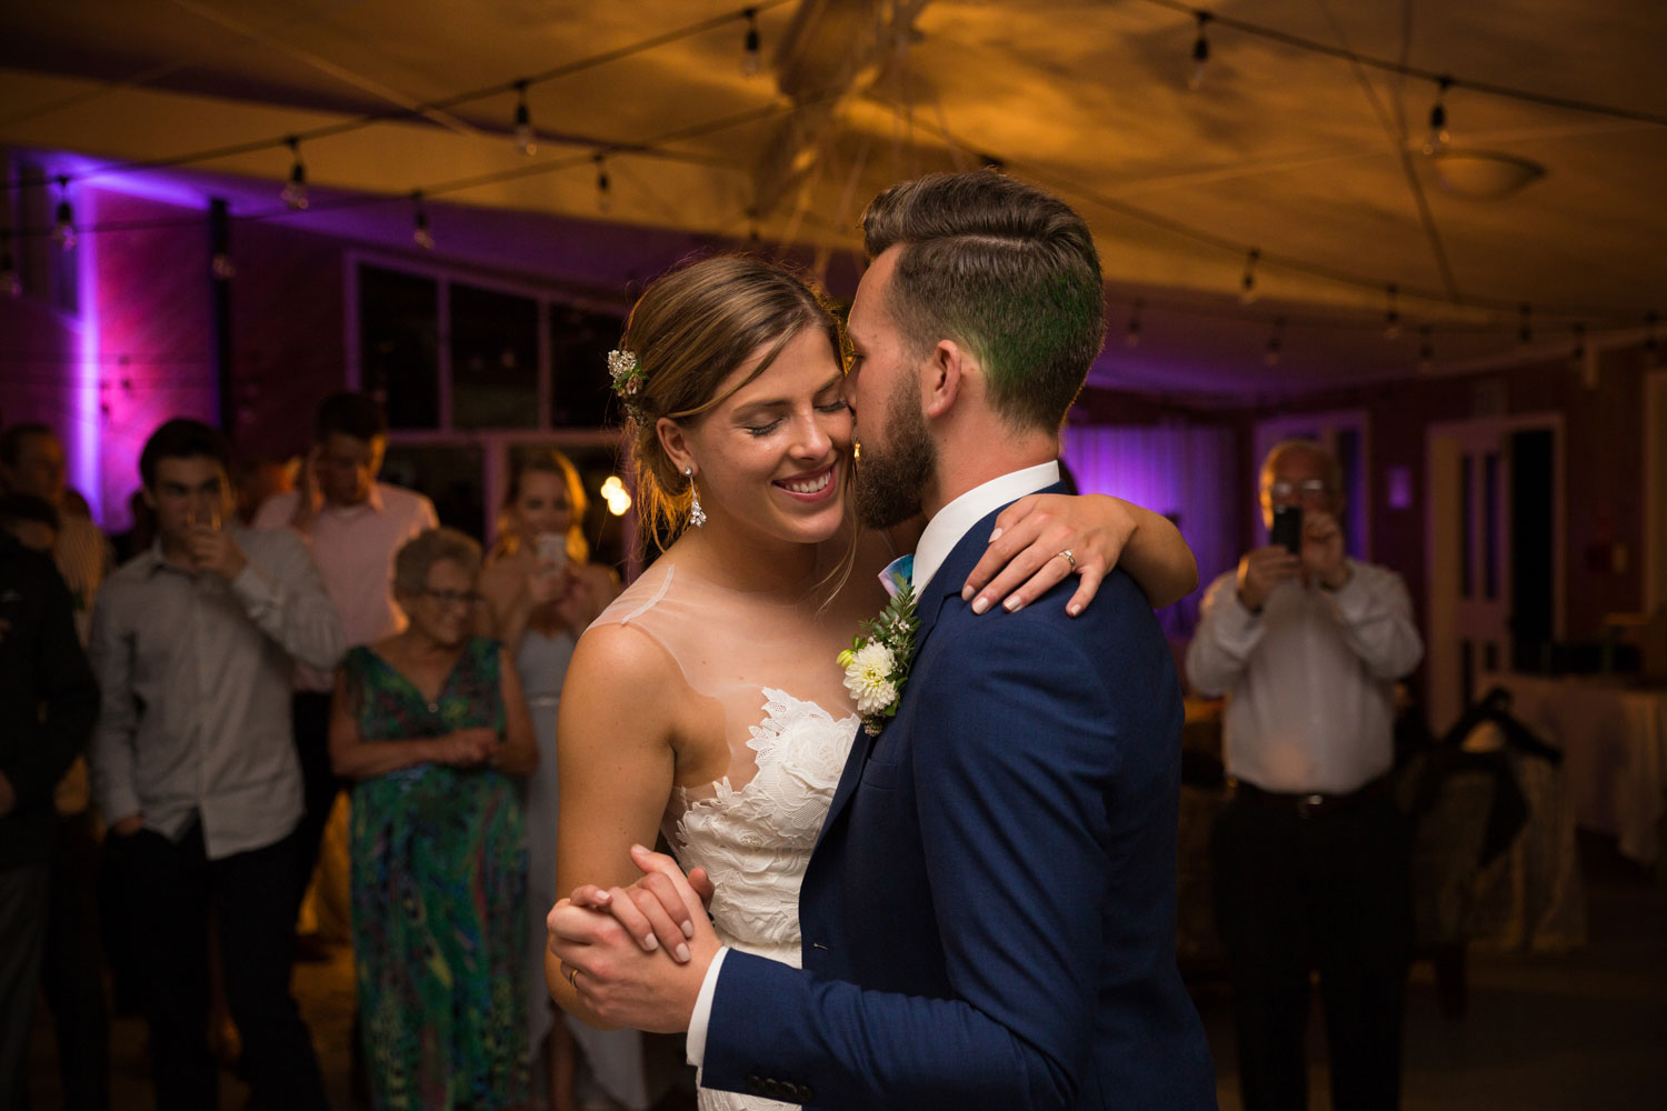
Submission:
[[[737,366],[718,396],[767,348]],[[852,416],[845,375],[820,328],[803,328],[768,370],[683,430],[708,528],[737,526],[790,543],[820,543],[845,515]],[[682,456],[673,455],[678,466]]]

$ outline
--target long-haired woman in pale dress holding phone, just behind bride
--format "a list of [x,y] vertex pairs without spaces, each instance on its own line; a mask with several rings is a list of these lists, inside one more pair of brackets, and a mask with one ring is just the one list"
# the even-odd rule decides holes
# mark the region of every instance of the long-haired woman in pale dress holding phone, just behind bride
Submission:
[[530,1063],[537,1088],[548,1089],[553,1111],[572,1111],[573,1039],[608,1098],[625,1108],[648,1106],[642,1034],[598,1031],[568,1023],[543,986],[543,916],[555,903],[555,715],[573,645],[618,595],[608,568],[588,563],[585,486],[560,451],[527,456],[510,476],[498,516],[497,548],[480,575],[483,616],[515,655],[538,741],[538,768],[527,778],[527,991]]

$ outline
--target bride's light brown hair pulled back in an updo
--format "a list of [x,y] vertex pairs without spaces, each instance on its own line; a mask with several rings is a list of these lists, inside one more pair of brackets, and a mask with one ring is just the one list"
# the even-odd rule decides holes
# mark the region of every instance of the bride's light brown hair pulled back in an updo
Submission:
[[[655,423],[690,421],[762,375],[805,328],[820,328],[844,363],[844,333],[823,293],[778,265],[722,255],[655,278],[625,321],[620,350],[637,356],[642,385],[623,398],[637,465],[637,505],[663,550],[688,520],[688,480],[660,446]],[[723,393],[737,366],[763,360]],[[698,480],[698,476],[697,476]]]

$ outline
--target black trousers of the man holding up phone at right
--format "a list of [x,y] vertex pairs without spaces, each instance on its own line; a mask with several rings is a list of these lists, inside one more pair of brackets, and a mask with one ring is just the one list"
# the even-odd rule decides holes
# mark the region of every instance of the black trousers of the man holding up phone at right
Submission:
[[1210,854],[1245,1109],[1307,1106],[1315,969],[1332,1106],[1399,1108],[1412,896],[1407,823],[1394,801],[1302,816],[1240,795],[1217,820]]

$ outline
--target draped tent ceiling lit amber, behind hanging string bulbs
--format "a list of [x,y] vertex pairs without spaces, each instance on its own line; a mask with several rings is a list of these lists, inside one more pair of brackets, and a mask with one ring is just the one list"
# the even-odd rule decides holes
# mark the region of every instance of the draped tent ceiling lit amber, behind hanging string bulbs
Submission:
[[[884,185],[995,158],[1095,230],[1114,313],[1097,380],[1165,393],[1409,375],[1422,325],[1439,366],[1519,358],[1522,303],[1545,350],[1569,350],[1575,323],[1592,345],[1639,341],[1667,313],[1660,0],[1219,0],[1195,92],[1197,23],[1174,0],[758,8],[747,75],[747,23],[722,2],[12,3],[0,145],[82,152],[85,170],[220,152],[167,173],[250,212],[277,203],[283,137],[343,125],[300,145],[330,195],[423,188],[822,255],[860,248]],[[1437,83],[1375,62],[1455,78],[1454,152],[1544,177],[1497,200],[1454,192],[1444,173],[1509,165],[1425,157]],[[510,138],[517,78],[533,78],[532,155]],[[390,208],[408,237],[408,203]]]

